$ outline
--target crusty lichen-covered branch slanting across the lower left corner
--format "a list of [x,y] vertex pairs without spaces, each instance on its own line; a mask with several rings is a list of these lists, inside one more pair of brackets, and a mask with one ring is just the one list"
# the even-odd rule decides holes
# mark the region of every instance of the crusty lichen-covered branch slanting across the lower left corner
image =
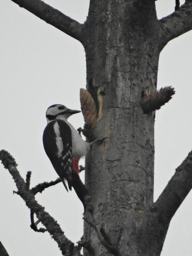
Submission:
[[20,176],[17,170],[15,159],[5,150],[0,151],[0,160],[4,164],[4,167],[9,170],[12,175],[15,184],[18,188],[18,193],[26,205],[32,212],[34,212],[41,223],[46,227],[46,230],[50,233],[53,239],[57,242],[61,252],[66,256],[80,256],[80,252],[77,251],[74,243],[72,243],[63,233],[60,225],[56,220],[48,213],[44,211],[44,207],[37,203],[35,196],[30,192],[26,186],[25,181]]

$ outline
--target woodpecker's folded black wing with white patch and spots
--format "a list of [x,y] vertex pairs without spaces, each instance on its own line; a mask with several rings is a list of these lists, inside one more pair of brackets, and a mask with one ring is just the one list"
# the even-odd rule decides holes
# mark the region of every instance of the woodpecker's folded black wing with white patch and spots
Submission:
[[63,120],[53,120],[48,123],[43,133],[43,145],[65,188],[67,189],[64,178],[68,181],[71,190],[72,138],[68,124]]

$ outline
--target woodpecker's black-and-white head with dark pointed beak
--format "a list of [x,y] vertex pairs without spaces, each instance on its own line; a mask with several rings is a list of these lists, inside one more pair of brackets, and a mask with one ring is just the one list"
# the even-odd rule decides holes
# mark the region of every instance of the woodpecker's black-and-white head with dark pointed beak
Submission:
[[46,112],[46,118],[47,123],[51,122],[55,119],[68,119],[69,116],[81,112],[80,110],[73,110],[70,108],[67,108],[64,105],[61,104],[55,104],[47,108]]

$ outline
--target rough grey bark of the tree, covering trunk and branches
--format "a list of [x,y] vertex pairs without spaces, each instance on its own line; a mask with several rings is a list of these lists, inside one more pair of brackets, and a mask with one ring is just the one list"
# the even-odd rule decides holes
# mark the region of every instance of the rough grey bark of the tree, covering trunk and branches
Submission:
[[[91,205],[85,213],[84,255],[160,255],[170,220],[192,187],[192,153],[154,204],[155,112],[144,114],[140,100],[141,92],[156,92],[163,47],[192,29],[191,0],[160,21],[152,0],[91,0],[83,25],[40,0],[12,1],[78,39],[85,48],[87,89],[98,114],[94,136],[99,140],[86,158],[85,184],[94,211]],[[33,194],[41,188],[29,191],[28,180],[25,183],[16,175],[14,164],[5,168],[32,209],[31,218],[35,212],[48,229],[52,217],[37,205]],[[77,251],[72,245],[71,250],[71,242],[55,225],[62,252],[79,255],[81,245]],[[50,234],[57,240],[59,232]]]

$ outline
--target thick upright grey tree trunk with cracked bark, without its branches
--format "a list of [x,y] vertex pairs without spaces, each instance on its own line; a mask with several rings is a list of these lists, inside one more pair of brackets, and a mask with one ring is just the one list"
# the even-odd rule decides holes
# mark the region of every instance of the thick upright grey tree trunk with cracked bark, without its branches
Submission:
[[[134,7],[128,1],[105,2],[90,2],[85,28],[87,88],[99,106],[96,135],[103,139],[86,159],[85,183],[95,217],[113,244],[123,228],[121,253],[157,256],[164,235],[157,244],[156,238],[148,239],[154,219],[155,112],[143,114],[140,106],[141,91],[156,91],[160,49],[155,2]],[[84,234],[97,248],[95,255],[106,252],[86,223]]]

